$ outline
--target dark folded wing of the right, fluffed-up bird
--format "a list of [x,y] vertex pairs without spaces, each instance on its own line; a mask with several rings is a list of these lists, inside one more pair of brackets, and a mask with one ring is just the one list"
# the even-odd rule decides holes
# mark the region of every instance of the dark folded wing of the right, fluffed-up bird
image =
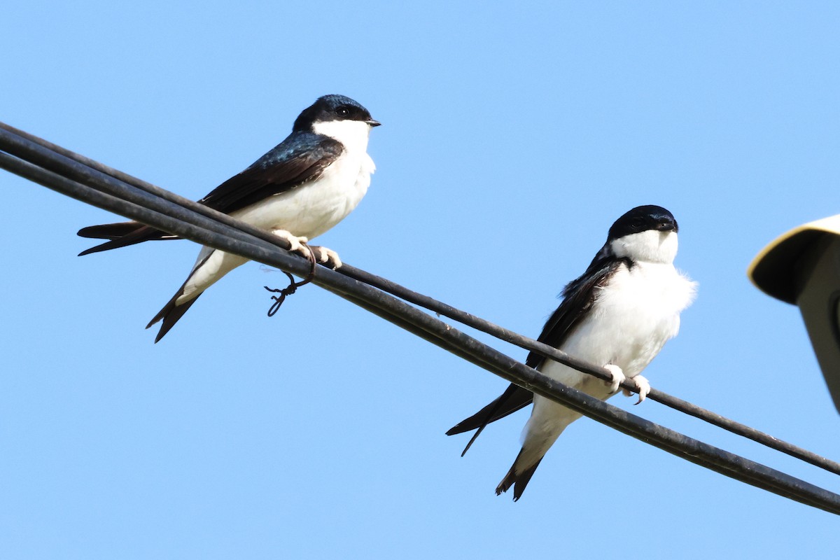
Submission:
[[[597,289],[601,285],[604,285],[622,264],[629,265],[625,261],[626,259],[611,259],[601,249],[601,252],[592,260],[586,272],[580,278],[572,280],[566,285],[563,290],[563,301],[560,302],[558,308],[545,323],[538,341],[549,344],[549,346],[554,348],[559,348],[578,325],[580,319],[585,316],[586,311],[591,309],[597,296]],[[528,353],[528,359],[525,360],[525,364],[529,367],[537,368],[543,364],[543,361],[545,361],[543,356],[531,352]],[[487,424],[528,406],[532,401],[533,393],[531,391],[523,389],[519,385],[508,385],[507,390],[496,398],[496,400],[493,400],[493,402],[476,412],[473,416],[470,416],[464,421],[460,421],[456,426],[450,428],[449,432],[446,432],[446,435],[452,436],[456,433],[476,430],[470,442],[464,448],[464,452],[461,453],[463,455],[472,443],[475,442],[475,438],[478,437]]]

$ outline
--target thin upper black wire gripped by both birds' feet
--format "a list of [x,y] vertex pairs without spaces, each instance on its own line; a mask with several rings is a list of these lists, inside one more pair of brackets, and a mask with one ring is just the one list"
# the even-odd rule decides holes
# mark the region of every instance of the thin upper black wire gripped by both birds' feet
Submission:
[[[41,154],[47,154],[49,151],[64,156],[68,160],[73,160],[77,163],[80,163],[84,166],[91,168],[92,170],[97,170],[102,174],[110,175],[111,177],[117,179],[118,181],[123,181],[131,186],[137,187],[141,191],[146,191],[150,194],[155,196],[160,196],[161,198],[175,202],[177,205],[181,207],[185,207],[189,210],[197,212],[202,216],[209,217],[213,220],[217,220],[218,222],[222,222],[225,225],[230,226],[231,228],[239,229],[244,233],[248,233],[249,235],[253,235],[256,238],[263,239],[269,243],[275,244],[280,246],[283,249],[288,249],[289,245],[283,238],[278,238],[275,235],[272,235],[269,232],[266,232],[263,229],[255,228],[250,224],[246,224],[244,222],[239,222],[232,217],[229,217],[227,214],[223,214],[222,212],[217,212],[212,208],[208,208],[202,204],[199,204],[196,201],[192,201],[190,199],[184,198],[183,196],[176,195],[173,192],[166,191],[165,189],[160,188],[159,186],[152,185],[146,181],[142,181],[137,177],[124,173],[123,171],[115,170],[108,165],[104,165],[96,160],[91,160],[86,156],[81,154],[76,154],[69,149],[62,148],[56,144],[52,144],[45,139],[40,139],[33,134],[26,133],[23,130],[18,130],[18,128],[13,128],[5,123],[0,123],[0,129],[6,130],[13,135],[18,136],[20,139],[28,140],[32,144],[36,144],[41,148],[47,150],[47,152],[43,152]],[[215,230],[219,231],[219,230]],[[553,348],[545,343],[540,343],[533,338],[524,337],[517,332],[512,332],[507,328],[500,327],[492,322],[486,321],[480,317],[475,317],[466,311],[461,311],[453,306],[449,306],[441,301],[437,301],[429,296],[424,296],[423,294],[417,293],[416,291],[409,290],[406,287],[396,284],[391,280],[387,280],[385,278],[381,278],[381,276],[372,275],[365,270],[360,270],[355,268],[350,264],[344,264],[339,272],[343,275],[349,276],[350,278],[354,278],[355,280],[360,280],[365,282],[365,284],[375,286],[380,290],[386,291],[394,296],[400,297],[405,301],[409,301],[415,305],[425,307],[429,311],[434,311],[444,317],[449,317],[450,319],[454,319],[455,321],[464,323],[469,327],[473,327],[481,332],[486,332],[491,336],[499,338],[507,343],[512,343],[520,348],[525,348],[527,350],[534,351],[539,353],[542,356],[545,356],[550,359],[554,359],[555,361],[570,366],[571,368],[577,369],[578,371],[584,372],[586,374],[591,374],[596,376],[599,379],[610,380],[612,376],[606,369],[599,368],[596,365],[586,363],[580,359],[576,359],[574,356],[570,356],[567,353],[564,353],[562,350],[557,348]],[[622,387],[628,390],[635,390],[636,387],[629,382],[625,382],[622,384]],[[664,393],[663,391],[652,389],[648,394],[648,398],[650,400],[656,400],[657,402],[669,406],[677,411],[684,412],[689,416],[694,416],[699,418],[703,421],[709,422],[714,426],[721,427],[728,432],[732,432],[738,434],[739,436],[747,437],[748,439],[753,440],[754,442],[759,442],[767,447],[771,447],[776,451],[781,453],[786,453],[791,457],[795,457],[805,461],[806,463],[811,463],[816,467],[823,468],[831,473],[840,474],[840,463],[832,461],[831,459],[822,457],[816,453],[808,451],[802,447],[795,446],[790,442],[785,442],[780,440],[777,437],[773,437],[767,433],[761,432],[753,427],[748,427],[745,424],[742,424],[737,421],[733,421],[725,416],[721,416],[715,412],[706,410],[701,406],[696,406],[687,400],[682,400],[674,395],[669,395]]]

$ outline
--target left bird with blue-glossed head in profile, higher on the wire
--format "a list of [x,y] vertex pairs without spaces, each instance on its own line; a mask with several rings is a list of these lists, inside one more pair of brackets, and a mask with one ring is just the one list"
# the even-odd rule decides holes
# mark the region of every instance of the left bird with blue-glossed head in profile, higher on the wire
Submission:
[[[219,212],[269,230],[304,256],[302,245],[335,224],[359,204],[370,186],[375,165],[367,154],[370,128],[380,123],[358,102],[340,95],[319,97],[295,120],[291,134],[246,170],[213,189],[199,202]],[[84,238],[110,239],[83,254],[117,249],[177,236],[139,222],[83,228]],[[341,266],[338,255],[323,249],[320,262]],[[203,247],[190,275],[146,328],[163,320],[155,343],[163,338],[204,290],[248,259]]]

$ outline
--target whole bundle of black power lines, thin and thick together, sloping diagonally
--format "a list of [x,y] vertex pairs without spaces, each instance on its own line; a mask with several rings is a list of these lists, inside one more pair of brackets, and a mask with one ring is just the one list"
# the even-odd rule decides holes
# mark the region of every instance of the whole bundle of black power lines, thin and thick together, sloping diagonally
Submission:
[[[288,254],[284,250],[287,247],[285,241],[275,238],[270,233],[3,123],[0,123],[0,149],[5,152],[0,152],[0,167],[67,196],[148,223],[182,238],[240,254],[299,276],[305,276],[309,272],[308,262]],[[556,400],[643,442],[733,479],[840,514],[840,495],[659,426],[585,395],[579,390],[559,384],[416,307],[389,296],[386,292],[399,295],[406,301],[426,306],[442,315],[490,332],[502,340],[534,350],[601,379],[607,377],[604,369],[580,362],[555,348],[522,337],[347,264],[340,269],[340,273],[318,267],[312,282],[504,379]],[[660,391],[652,391],[648,397],[834,473],[840,473],[840,465],[837,463],[789,443],[780,442],[774,437],[705,411],[684,400]]]

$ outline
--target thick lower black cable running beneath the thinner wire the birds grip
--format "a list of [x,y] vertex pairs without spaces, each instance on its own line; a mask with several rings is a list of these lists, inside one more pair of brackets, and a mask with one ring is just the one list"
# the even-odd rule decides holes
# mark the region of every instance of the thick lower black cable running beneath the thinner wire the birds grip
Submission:
[[[19,143],[18,143],[19,144]],[[0,134],[0,149],[7,149],[9,143],[5,135]],[[11,143],[14,147],[16,144]],[[45,156],[45,154],[41,154]],[[39,160],[35,157],[34,160]],[[55,154],[47,156],[51,165],[56,165]],[[37,164],[37,161],[34,161]],[[39,165],[19,160],[8,154],[0,153],[0,167],[10,170],[13,173],[24,176],[30,181],[38,182],[68,196],[73,196],[81,201],[87,201],[95,206],[117,212],[140,222],[149,223],[155,228],[175,233],[184,238],[190,238],[197,243],[207,244],[214,248],[242,254],[246,258],[276,266],[281,270],[289,270],[297,275],[307,273],[307,261],[278,250],[271,243],[261,239],[246,241],[240,238],[241,232],[233,228],[221,227],[227,232],[214,231],[212,229],[195,225],[194,222],[202,222],[200,217],[192,212],[175,212],[179,217],[172,217],[165,213],[156,212],[139,204],[121,200],[118,197],[103,194],[90,186],[71,181],[57,173],[45,170]],[[94,172],[95,175],[96,172]],[[102,175],[92,179],[97,183],[108,183],[109,188],[118,193],[130,196],[134,187],[117,181],[111,176]],[[172,209],[171,210],[175,210]],[[184,219],[181,219],[184,218]],[[217,224],[218,225],[218,224]],[[245,236],[247,238],[248,236]],[[318,269],[318,274],[313,280],[327,290],[339,296],[353,301],[357,305],[394,322],[398,326],[414,332],[418,336],[435,343],[438,346],[455,353],[470,362],[488,369],[508,379],[533,390],[539,395],[556,400],[564,406],[569,406],[575,411],[601,421],[607,426],[614,427],[628,435],[648,442],[656,447],[664,449],[681,458],[693,463],[711,468],[718,473],[725,474],[733,479],[741,480],[762,489],[767,489],[775,494],[785,496],[791,500],[797,500],[806,505],[812,505],[822,510],[840,514],[840,495],[836,495],[826,489],[821,489],[808,484],[800,479],[795,479],[788,474],[780,473],[759,463],[754,463],[746,458],[739,457],[732,453],[718,449],[693,438],[686,437],[678,432],[643,420],[629,412],[617,409],[601,400],[593,399],[578,390],[559,384],[553,379],[540,374],[537,370],[528,368],[506,355],[499,353],[470,338],[465,333],[449,327],[444,322],[428,316],[426,313],[408,306],[391,296],[387,296],[380,290],[375,290],[369,285],[339,275],[332,270]]]

